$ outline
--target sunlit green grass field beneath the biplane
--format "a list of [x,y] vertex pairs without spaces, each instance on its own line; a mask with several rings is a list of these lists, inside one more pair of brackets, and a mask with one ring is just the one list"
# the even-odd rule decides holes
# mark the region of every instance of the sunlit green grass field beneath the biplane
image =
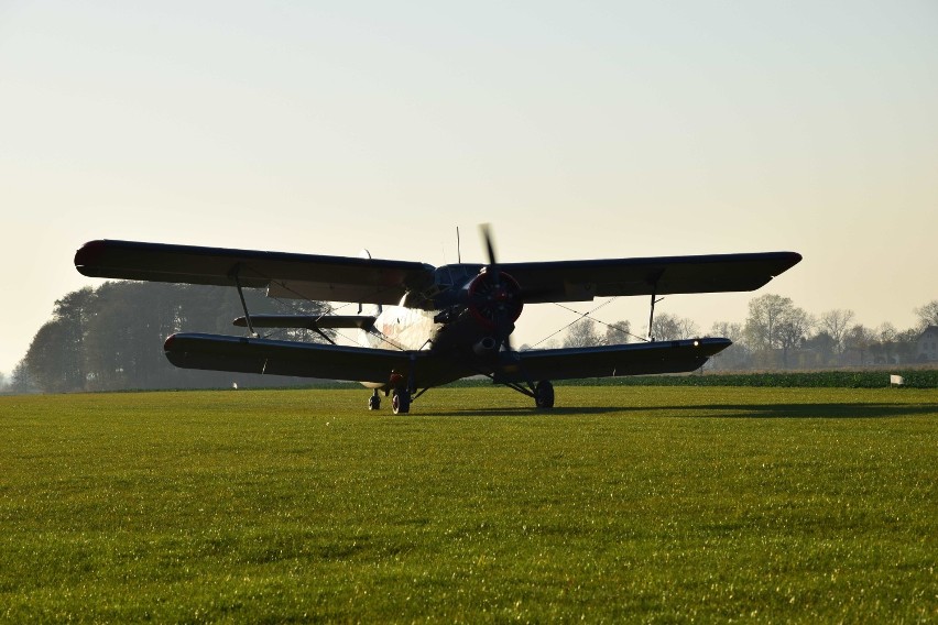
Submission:
[[0,397],[0,621],[938,621],[938,391],[557,392]]

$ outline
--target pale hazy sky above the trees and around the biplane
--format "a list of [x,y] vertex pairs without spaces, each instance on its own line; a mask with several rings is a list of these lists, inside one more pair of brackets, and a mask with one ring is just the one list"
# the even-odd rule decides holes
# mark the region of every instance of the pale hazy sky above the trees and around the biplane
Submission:
[[[100,238],[439,265],[457,226],[481,261],[488,221],[504,261],[793,250],[755,294],[659,310],[707,330],[777,293],[909,327],[938,298],[936,111],[934,0],[0,0],[0,371],[100,284],[72,262]],[[575,318],[528,307],[516,342]]]

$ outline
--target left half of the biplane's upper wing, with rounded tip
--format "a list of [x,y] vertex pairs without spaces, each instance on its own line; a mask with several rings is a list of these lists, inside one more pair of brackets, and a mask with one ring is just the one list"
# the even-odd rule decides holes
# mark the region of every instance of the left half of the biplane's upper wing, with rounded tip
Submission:
[[408,261],[91,241],[75,254],[91,277],[266,287],[272,297],[397,304],[433,281],[434,267]]

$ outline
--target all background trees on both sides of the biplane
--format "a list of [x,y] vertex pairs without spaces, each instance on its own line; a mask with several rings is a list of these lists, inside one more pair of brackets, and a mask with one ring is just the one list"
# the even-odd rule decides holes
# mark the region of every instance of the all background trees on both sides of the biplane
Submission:
[[[271,299],[257,289],[246,289],[244,297],[257,314],[321,315],[329,309],[319,301]],[[55,303],[52,319],[33,337],[7,386],[13,392],[64,393],[219,387],[239,380],[265,386],[308,384],[303,379],[193,371],[170,364],[162,349],[166,337],[178,331],[230,335],[232,311],[240,306],[238,293],[226,287],[107,282],[72,292]],[[854,322],[852,310],[814,316],[788,297],[766,294],[750,300],[744,322],[720,321],[709,332],[701,332],[690,319],[659,312],[651,335],[655,340],[702,336],[732,340],[732,347],[711,360],[718,370],[905,364],[918,358],[921,330],[938,326],[938,299],[915,312],[919,324],[914,328],[897,330],[890,322],[868,328]],[[632,333],[628,320],[604,324],[583,317],[563,331],[563,347],[646,340]],[[277,332],[273,338],[323,340],[308,330]],[[3,382],[0,379],[0,386]]]

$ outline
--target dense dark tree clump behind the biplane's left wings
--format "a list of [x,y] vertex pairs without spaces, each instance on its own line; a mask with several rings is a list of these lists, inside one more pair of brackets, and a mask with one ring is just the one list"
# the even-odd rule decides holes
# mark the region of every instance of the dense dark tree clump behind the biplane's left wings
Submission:
[[[320,315],[317,301],[283,303],[258,289],[244,289],[257,314]],[[126,388],[196,388],[230,386],[243,380],[265,386],[295,384],[296,379],[194,371],[173,366],[163,341],[174,332],[232,333],[232,311],[240,310],[237,290],[182,284],[107,282],[58,299],[52,319],[35,333],[13,370],[13,392],[117,391]],[[321,341],[308,330],[282,330],[274,338]],[[308,383],[309,381],[304,381]]]

